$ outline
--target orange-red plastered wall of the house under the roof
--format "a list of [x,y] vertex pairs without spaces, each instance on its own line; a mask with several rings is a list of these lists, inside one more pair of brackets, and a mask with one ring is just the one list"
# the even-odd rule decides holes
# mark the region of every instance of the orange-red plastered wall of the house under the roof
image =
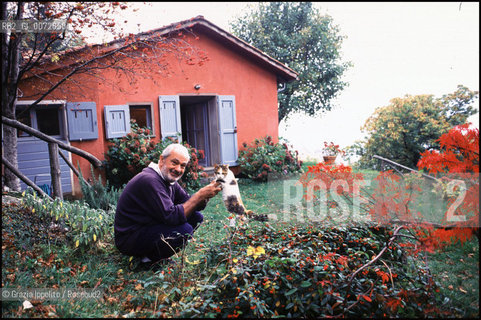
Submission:
[[[94,101],[97,104],[99,138],[82,142],[72,141],[72,146],[103,160],[108,145],[105,139],[103,106],[134,102],[153,103],[155,139],[160,139],[159,95],[234,95],[239,148],[243,142],[250,143],[266,135],[277,141],[276,75],[205,34],[199,33],[197,36],[197,39],[187,37],[185,40],[205,52],[208,60],[202,65],[178,61],[173,54],[169,54],[165,59],[168,61],[168,74],[159,76],[152,73],[156,83],[151,79],[138,77],[136,83],[130,84],[129,79],[121,72],[106,69],[102,71],[101,76],[115,84],[78,76],[75,78],[78,83],[88,83],[88,88],[66,84],[62,86],[64,93],[59,91],[48,97],[68,102]],[[142,67],[146,70],[159,70],[156,64]],[[196,84],[201,85],[199,90],[194,89]],[[35,89],[33,83],[27,81],[22,85],[22,90],[30,95]],[[90,164],[87,160],[76,155],[72,155],[72,160],[75,166],[79,161],[84,176],[90,176]],[[74,190],[80,190],[78,181],[74,183]]]

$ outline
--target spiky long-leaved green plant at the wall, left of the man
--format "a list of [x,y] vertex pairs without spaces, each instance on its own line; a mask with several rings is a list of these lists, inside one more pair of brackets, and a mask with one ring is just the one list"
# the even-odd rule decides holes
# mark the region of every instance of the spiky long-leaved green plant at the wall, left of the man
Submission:
[[98,180],[95,179],[93,167],[90,166],[90,174],[92,176],[92,184],[89,185],[82,176],[82,170],[79,167],[79,181],[82,189],[83,200],[94,209],[109,210],[117,207],[122,189],[113,188],[107,180],[105,186],[102,183],[102,178],[99,175]]

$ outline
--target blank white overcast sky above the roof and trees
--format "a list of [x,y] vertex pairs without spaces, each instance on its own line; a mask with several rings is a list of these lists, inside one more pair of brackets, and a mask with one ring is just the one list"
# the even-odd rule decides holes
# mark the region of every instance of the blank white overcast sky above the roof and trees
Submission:
[[[134,5],[134,3],[131,3]],[[129,32],[137,33],[203,15],[231,31],[229,22],[249,2],[155,2],[135,4]],[[378,107],[407,94],[452,93],[458,84],[479,91],[478,2],[314,2],[332,16],[342,35],[343,59],[353,67],[349,86],[333,111],[312,118],[293,116],[279,135],[301,154],[320,158],[323,141],[346,147],[364,134],[360,128]],[[479,102],[476,103],[479,109]],[[478,115],[470,119],[479,128]]]

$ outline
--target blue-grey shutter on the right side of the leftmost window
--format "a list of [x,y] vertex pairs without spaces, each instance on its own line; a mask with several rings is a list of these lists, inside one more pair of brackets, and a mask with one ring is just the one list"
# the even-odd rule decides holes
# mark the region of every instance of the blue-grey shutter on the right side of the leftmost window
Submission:
[[67,121],[70,141],[94,140],[99,137],[95,102],[68,102]]

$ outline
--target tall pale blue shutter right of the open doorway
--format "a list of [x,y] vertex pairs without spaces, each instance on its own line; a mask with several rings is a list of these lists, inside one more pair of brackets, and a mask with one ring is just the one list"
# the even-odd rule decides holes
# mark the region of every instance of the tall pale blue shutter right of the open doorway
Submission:
[[237,123],[235,117],[235,97],[218,96],[219,133],[221,161],[231,166],[237,165]]

